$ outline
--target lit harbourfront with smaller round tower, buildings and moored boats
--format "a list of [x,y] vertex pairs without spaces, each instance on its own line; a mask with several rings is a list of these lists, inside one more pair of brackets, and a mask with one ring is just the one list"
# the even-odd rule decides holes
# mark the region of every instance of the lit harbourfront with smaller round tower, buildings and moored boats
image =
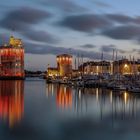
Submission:
[[57,67],[48,66],[46,82],[140,93],[140,60],[125,58],[112,62],[83,62],[73,70],[71,59],[72,56],[68,54],[57,56]]

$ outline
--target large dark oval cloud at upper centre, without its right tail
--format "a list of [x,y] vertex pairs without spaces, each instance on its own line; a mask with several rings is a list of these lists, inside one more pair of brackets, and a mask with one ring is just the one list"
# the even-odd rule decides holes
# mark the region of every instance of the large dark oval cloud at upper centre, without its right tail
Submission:
[[92,14],[68,16],[59,22],[59,24],[82,32],[92,32],[111,26],[110,21],[104,16]]

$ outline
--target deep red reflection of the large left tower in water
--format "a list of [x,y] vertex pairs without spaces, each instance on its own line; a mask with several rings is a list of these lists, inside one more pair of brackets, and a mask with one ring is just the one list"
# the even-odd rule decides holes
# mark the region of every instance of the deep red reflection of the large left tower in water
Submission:
[[0,118],[12,127],[24,112],[24,82],[0,81]]

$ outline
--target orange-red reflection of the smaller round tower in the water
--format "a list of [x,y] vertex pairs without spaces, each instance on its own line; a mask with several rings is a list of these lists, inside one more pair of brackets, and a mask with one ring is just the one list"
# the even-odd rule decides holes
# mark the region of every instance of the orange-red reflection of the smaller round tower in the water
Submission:
[[70,87],[60,85],[57,87],[57,106],[62,108],[72,107],[72,90]]

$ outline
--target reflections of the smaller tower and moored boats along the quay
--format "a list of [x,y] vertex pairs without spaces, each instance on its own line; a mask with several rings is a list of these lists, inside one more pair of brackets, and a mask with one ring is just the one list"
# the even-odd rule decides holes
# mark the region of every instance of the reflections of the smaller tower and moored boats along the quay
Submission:
[[[102,88],[74,88],[66,85],[47,85],[47,97],[55,98],[56,105],[62,109],[71,108],[66,112],[72,115],[93,116],[93,119],[103,120],[136,118],[140,109],[140,98],[126,91],[112,91]],[[65,112],[63,112],[65,113]]]

